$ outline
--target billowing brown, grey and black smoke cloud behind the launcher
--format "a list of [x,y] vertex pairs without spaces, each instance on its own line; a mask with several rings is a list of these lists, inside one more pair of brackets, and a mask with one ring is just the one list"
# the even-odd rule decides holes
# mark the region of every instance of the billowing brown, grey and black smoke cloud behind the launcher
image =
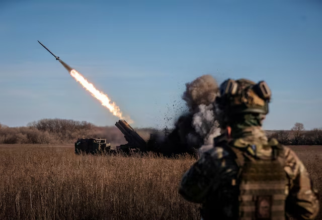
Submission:
[[182,99],[189,112],[181,115],[175,129],[165,137],[152,134],[152,148],[165,154],[195,152],[203,145],[212,145],[220,135],[214,101],[219,94],[217,81],[211,75],[202,75],[186,83]]

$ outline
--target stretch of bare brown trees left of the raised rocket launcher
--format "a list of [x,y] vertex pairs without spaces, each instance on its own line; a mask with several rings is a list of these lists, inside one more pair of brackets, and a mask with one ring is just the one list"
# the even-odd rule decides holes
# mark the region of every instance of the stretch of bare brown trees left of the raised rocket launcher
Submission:
[[124,139],[117,128],[97,127],[85,121],[42,119],[15,128],[0,124],[0,144],[71,144],[78,138]]

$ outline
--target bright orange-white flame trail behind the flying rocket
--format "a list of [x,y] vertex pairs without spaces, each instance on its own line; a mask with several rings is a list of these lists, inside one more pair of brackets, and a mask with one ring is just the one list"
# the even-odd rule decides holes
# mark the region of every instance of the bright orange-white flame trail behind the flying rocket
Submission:
[[111,102],[110,98],[106,94],[97,90],[95,86],[92,83],[88,82],[82,74],[74,69],[71,69],[69,73],[77,82],[81,83],[83,87],[92,94],[92,96],[97,98],[103,106],[108,108],[113,116],[116,116],[121,120],[126,120],[129,124],[133,123],[133,121],[129,117],[123,116],[120,107],[117,106],[114,101]]

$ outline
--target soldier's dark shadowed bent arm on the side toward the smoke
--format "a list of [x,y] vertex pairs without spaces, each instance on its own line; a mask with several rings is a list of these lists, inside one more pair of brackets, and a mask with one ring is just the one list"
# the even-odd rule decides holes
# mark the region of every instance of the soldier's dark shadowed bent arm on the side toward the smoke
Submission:
[[214,158],[215,149],[207,151],[184,174],[179,193],[188,201],[202,203],[210,190],[219,184],[219,159]]

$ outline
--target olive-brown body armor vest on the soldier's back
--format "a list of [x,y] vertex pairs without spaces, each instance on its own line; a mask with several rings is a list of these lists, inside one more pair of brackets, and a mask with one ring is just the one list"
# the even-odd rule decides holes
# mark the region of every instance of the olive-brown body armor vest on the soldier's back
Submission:
[[261,154],[256,146],[250,147],[255,155],[231,148],[239,166],[239,219],[284,220],[287,178],[283,146],[263,146],[261,149],[272,149],[270,156],[257,156]]

